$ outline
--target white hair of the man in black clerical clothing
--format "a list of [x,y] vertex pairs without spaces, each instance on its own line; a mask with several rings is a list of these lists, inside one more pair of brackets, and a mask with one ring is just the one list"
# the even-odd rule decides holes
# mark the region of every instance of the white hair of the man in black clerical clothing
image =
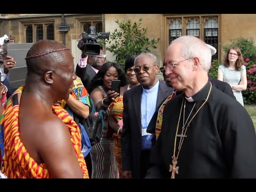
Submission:
[[[211,50],[201,39],[193,36],[181,36],[172,43],[181,43],[180,55],[184,58],[198,57],[202,68],[209,71],[211,67]],[[172,44],[171,43],[171,44]]]

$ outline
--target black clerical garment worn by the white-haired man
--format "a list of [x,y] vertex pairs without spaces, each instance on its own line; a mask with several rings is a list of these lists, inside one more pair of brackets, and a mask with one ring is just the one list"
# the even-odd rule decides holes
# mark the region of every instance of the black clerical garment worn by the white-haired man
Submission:
[[[199,109],[210,87],[209,98]],[[192,98],[194,101],[188,102],[182,93],[166,103],[161,133],[151,150],[152,166],[146,178],[171,178],[174,145],[179,167],[175,178],[256,178],[256,135],[245,108],[210,82]],[[186,130],[191,118],[179,149],[181,137],[175,142],[175,135],[182,133],[183,122]]]

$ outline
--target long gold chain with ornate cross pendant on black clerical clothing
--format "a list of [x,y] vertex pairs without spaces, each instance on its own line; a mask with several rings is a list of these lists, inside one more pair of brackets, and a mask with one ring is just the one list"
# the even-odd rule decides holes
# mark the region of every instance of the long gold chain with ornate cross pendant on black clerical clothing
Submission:
[[[181,132],[181,135],[179,136],[178,135],[178,130],[179,130],[179,124],[180,124],[180,117],[181,117],[181,111],[182,111],[182,107],[183,107],[183,103],[184,103],[184,98],[182,100],[182,104],[181,104],[181,108],[180,108],[180,116],[179,116],[179,121],[178,121],[178,124],[177,124],[177,129],[176,129],[176,136],[175,136],[175,140],[174,140],[174,149],[173,149],[173,156],[172,156],[172,164],[170,164],[170,169],[169,169],[169,172],[172,172],[172,175],[171,175],[171,179],[174,179],[175,178],[175,173],[176,174],[179,174],[179,166],[177,166],[178,164],[178,157],[179,157],[179,154],[180,154],[180,149],[182,147],[182,144],[183,144],[183,141],[184,141],[184,138],[187,137],[186,135],[186,132],[188,130],[188,125],[190,124],[190,122],[194,119],[194,117],[197,115],[197,113],[199,112],[200,109],[202,109],[202,107],[204,106],[204,104],[207,102],[207,100],[209,99],[209,95],[211,93],[211,90],[212,90],[212,83],[210,82],[210,90],[207,94],[207,97],[204,101],[204,103],[201,105],[201,107],[199,107],[199,109],[197,109],[195,115],[190,119],[190,121],[188,122],[187,126],[186,126],[186,129],[185,129],[185,133],[183,135],[183,127],[182,127],[182,132]],[[194,107],[193,107],[194,108]],[[192,109],[193,110],[193,109]],[[191,111],[190,111],[191,113]],[[184,117],[183,117],[184,118]],[[186,123],[185,123],[186,124]],[[183,125],[184,126],[184,125]],[[175,153],[176,153],[176,142],[177,142],[177,137],[180,137],[180,145],[179,145],[179,149],[178,149],[178,154],[177,154],[177,157],[175,157]]]

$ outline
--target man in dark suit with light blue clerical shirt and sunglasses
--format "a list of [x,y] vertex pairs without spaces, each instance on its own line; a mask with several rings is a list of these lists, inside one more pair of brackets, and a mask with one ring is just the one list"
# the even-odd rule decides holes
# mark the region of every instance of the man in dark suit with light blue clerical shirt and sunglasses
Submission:
[[157,106],[173,89],[157,78],[155,55],[142,53],[134,61],[141,85],[124,92],[122,164],[123,178],[144,178],[149,167],[152,135],[146,132]]

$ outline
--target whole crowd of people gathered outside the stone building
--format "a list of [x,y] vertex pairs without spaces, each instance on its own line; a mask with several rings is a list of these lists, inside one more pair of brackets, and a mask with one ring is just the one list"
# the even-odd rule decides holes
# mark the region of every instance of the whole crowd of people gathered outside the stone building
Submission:
[[[65,45],[34,43],[25,85],[10,91],[5,79],[18,61],[0,54],[0,178],[256,178],[238,47],[228,50],[218,79],[208,74],[216,50],[193,36],[172,41],[161,68],[152,53],[130,55],[123,69],[103,50],[81,50],[74,69]],[[75,121],[89,117],[92,102],[105,114],[95,145]]]

